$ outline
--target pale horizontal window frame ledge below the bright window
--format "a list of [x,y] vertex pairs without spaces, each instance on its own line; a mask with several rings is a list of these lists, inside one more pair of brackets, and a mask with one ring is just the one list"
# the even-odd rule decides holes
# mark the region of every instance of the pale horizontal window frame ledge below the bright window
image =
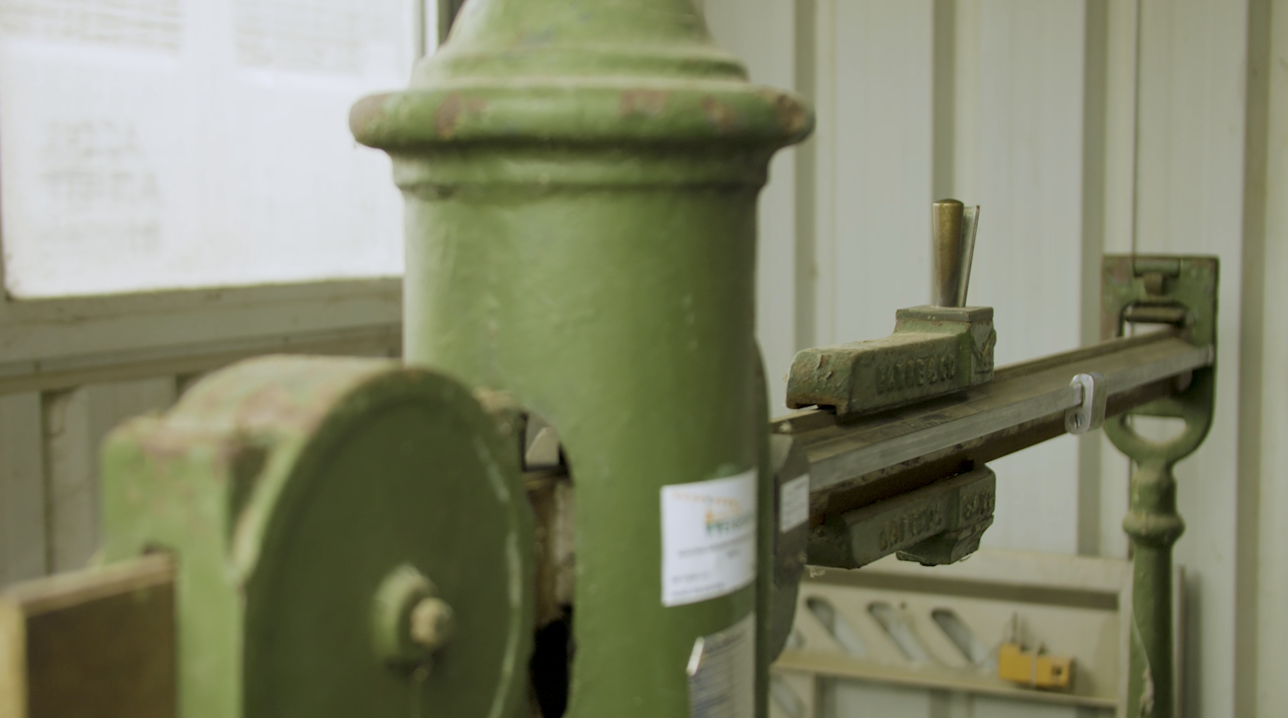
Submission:
[[0,394],[200,373],[273,352],[395,356],[401,334],[399,277],[58,299],[5,294]]

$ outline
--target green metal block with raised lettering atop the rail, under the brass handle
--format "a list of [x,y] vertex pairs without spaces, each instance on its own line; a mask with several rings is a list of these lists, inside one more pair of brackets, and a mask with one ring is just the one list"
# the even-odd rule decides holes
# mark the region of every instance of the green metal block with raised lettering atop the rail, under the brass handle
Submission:
[[787,406],[832,406],[845,416],[984,384],[996,343],[992,307],[899,309],[890,336],[799,352]]

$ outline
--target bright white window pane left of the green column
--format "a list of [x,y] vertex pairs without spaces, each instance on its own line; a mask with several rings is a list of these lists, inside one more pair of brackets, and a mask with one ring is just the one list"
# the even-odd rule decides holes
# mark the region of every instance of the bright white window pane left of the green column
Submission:
[[19,298],[402,272],[349,106],[406,85],[417,0],[0,0]]

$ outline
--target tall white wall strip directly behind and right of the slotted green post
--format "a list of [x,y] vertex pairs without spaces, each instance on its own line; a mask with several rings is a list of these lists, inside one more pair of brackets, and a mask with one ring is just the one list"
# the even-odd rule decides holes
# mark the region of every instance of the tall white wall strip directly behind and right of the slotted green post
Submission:
[[1234,715],[1235,505],[1247,4],[1141,0],[1136,249],[1221,258],[1212,432],[1176,467],[1188,708]]

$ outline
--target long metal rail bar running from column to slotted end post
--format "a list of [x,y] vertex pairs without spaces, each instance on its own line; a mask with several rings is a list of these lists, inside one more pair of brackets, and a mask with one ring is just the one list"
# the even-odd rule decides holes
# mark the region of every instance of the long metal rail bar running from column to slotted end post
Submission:
[[997,370],[989,384],[948,397],[838,422],[826,410],[774,420],[810,459],[810,513],[853,510],[1064,433],[1064,412],[1082,402],[1069,380],[1099,371],[1109,392],[1106,415],[1173,393],[1213,361],[1176,331],[1112,339]]

